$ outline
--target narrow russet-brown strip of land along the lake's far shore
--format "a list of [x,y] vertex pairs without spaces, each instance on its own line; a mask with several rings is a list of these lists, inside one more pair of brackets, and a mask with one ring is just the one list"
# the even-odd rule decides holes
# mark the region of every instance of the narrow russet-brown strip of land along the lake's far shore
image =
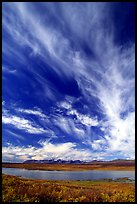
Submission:
[[111,161],[94,162],[91,164],[23,164],[23,163],[3,163],[2,167],[25,168],[36,170],[62,170],[62,171],[82,171],[82,170],[135,170],[135,161]]

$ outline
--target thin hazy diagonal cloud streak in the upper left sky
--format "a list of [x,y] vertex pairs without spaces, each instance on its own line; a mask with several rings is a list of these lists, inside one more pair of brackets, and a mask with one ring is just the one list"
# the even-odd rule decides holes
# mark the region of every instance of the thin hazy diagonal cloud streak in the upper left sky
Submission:
[[[67,73],[65,69],[62,69],[62,66],[69,67],[66,62],[68,55],[71,53],[69,40],[65,38],[61,32],[49,26],[46,21],[43,25],[43,19],[40,15],[33,12],[32,5],[28,7],[28,4],[21,2],[13,3],[12,7],[10,7],[10,4],[6,6],[10,9],[12,15],[10,16],[9,24],[7,20],[8,14],[5,12],[6,9],[3,11],[3,27],[12,38],[20,46],[27,45],[30,47],[32,54],[35,53],[39,55],[46,63],[48,63],[50,58],[50,63],[53,65],[52,68],[59,75],[62,75],[62,73],[66,75],[71,74],[69,69]],[[16,18],[18,21],[15,21]],[[22,35],[22,33],[24,33],[24,35]],[[59,46],[60,43],[61,46]],[[4,46],[3,51],[5,48]],[[63,59],[65,53],[66,59]],[[58,69],[55,69],[53,61],[58,65]],[[60,66],[60,64],[62,66]],[[33,70],[33,72],[35,73],[36,71]]]

